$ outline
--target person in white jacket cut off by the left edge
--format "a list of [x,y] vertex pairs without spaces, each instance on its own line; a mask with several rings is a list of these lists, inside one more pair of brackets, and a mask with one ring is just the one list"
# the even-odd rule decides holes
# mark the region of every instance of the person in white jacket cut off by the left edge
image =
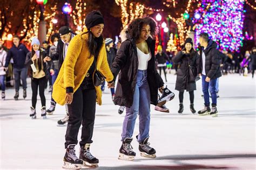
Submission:
[[0,42],[0,85],[2,89],[2,100],[5,100],[5,84],[4,84],[4,79],[5,79],[5,74],[6,70],[4,68],[4,63],[6,59],[6,51],[4,51],[3,44]]

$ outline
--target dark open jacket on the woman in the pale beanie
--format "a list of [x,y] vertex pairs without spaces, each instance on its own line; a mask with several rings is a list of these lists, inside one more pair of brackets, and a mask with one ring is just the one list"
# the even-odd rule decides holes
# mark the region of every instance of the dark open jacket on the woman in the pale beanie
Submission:
[[[32,61],[32,52],[29,52],[28,54],[26,54],[26,60],[25,60],[25,65],[28,67],[28,69],[30,70],[30,77],[32,78],[33,77],[33,70],[32,70],[32,68],[31,68],[31,66],[30,65],[32,65],[32,63],[33,63],[33,61]],[[48,70],[47,70],[47,66],[46,66],[46,63],[43,61],[43,59],[46,57],[46,52],[43,50],[43,49],[41,49],[41,51],[40,51],[40,57],[42,57],[42,62],[43,62],[43,71],[44,71],[44,73],[45,73],[45,77],[46,77],[46,79],[49,79],[50,78],[50,74],[49,74],[49,72],[48,72]]]

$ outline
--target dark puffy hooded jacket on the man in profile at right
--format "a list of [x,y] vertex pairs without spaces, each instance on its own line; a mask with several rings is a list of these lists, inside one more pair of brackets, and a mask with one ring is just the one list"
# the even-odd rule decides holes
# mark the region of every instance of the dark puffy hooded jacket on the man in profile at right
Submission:
[[[209,40],[208,46],[204,49],[205,53],[205,73],[210,79],[217,79],[221,76],[220,71],[220,56],[217,48],[217,43]],[[203,72],[202,50],[200,50],[198,74]]]

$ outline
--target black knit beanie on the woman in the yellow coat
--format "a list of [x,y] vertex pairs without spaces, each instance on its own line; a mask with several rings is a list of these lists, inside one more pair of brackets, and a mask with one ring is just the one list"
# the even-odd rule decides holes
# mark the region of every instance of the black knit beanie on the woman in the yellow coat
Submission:
[[85,26],[87,29],[90,29],[91,27],[98,24],[104,24],[104,18],[102,14],[99,11],[89,12],[85,18]]

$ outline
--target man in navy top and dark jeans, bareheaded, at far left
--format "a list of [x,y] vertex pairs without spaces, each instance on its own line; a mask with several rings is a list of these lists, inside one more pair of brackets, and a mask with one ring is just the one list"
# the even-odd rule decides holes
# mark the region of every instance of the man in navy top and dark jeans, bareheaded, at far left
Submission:
[[29,52],[25,45],[19,42],[19,37],[14,36],[12,41],[14,45],[8,51],[6,61],[4,64],[5,69],[8,69],[10,60],[14,60],[14,79],[15,79],[15,96],[14,99],[17,101],[19,97],[19,84],[22,80],[23,87],[23,98],[26,98],[26,76],[28,74],[28,68],[25,66],[26,54]]

